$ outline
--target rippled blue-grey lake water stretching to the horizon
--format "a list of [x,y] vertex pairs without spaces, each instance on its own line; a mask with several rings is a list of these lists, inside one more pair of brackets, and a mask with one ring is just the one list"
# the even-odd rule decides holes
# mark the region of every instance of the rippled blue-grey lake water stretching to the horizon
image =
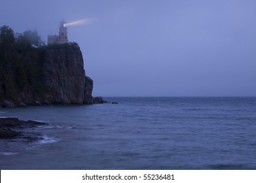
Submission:
[[113,97],[119,104],[0,108],[48,122],[0,141],[0,169],[256,169],[256,97]]

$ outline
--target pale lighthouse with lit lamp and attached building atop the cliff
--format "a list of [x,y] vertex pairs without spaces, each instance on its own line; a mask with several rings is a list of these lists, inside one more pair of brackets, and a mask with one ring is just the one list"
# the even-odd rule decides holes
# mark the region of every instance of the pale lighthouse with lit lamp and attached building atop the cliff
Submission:
[[48,35],[47,44],[64,44],[68,43],[68,31],[66,27],[66,22],[62,20],[60,22],[58,35]]

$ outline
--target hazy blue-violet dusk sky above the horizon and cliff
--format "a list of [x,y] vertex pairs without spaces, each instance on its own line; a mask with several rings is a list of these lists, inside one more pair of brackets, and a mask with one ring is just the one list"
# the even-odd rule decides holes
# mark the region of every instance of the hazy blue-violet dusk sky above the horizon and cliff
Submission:
[[255,0],[0,0],[0,26],[60,21],[83,53],[94,96],[256,96]]

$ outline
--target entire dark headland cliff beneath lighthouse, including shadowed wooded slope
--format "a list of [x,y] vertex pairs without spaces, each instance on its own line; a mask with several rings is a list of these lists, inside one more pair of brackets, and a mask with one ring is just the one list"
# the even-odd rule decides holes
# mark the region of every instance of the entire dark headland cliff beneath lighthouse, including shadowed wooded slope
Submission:
[[[2,106],[7,106],[8,101],[14,105],[93,103],[93,80],[85,76],[83,56],[75,43],[37,48],[22,54],[14,52],[9,58],[2,52],[2,58],[12,60],[11,65],[5,65],[7,71],[2,73],[0,81]],[[14,66],[21,61],[20,67]]]

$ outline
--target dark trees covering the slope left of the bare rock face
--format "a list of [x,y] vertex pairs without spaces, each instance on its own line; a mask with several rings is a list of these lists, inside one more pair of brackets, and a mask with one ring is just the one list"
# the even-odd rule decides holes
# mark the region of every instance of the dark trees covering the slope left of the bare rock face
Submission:
[[37,31],[14,34],[11,27],[0,27],[0,103],[3,99],[15,99],[22,92],[45,92],[45,48]]

